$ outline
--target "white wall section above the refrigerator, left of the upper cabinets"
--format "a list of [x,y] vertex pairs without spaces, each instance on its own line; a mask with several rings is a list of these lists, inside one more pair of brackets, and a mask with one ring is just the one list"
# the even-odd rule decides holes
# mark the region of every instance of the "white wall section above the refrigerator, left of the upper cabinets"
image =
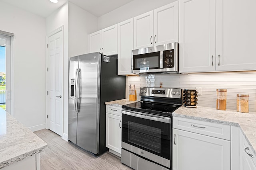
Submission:
[[69,57],[88,53],[88,34],[97,30],[97,17],[69,2],[68,51]]

